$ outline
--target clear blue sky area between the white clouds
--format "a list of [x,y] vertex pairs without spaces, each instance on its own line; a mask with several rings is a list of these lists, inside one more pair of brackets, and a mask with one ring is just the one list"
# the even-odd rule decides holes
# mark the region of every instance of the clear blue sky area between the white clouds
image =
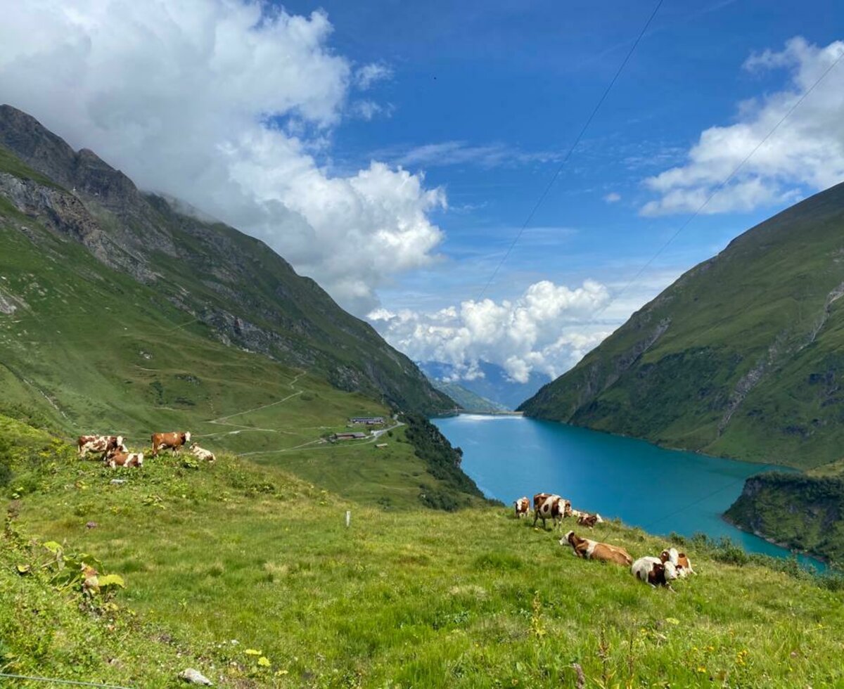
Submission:
[[[381,290],[388,308],[418,308],[419,293],[438,306],[478,296],[655,5],[495,4],[319,5],[338,51],[393,71],[376,90],[392,115],[345,121],[333,163],[397,160],[448,194],[449,211],[436,215],[448,265]],[[575,283],[638,270],[687,216],[641,218],[653,197],[642,180],[681,163],[706,127],[733,121],[739,101],[786,82],[785,73],[743,72],[749,55],[795,35],[825,46],[842,34],[840,3],[663,3],[489,295],[512,297],[538,278]],[[440,161],[403,161],[414,148],[450,142],[463,148]],[[474,160],[466,150],[484,147],[501,150]],[[461,151],[468,159],[457,162]],[[609,193],[619,202],[603,201]],[[690,267],[787,205],[696,218],[657,267]]]

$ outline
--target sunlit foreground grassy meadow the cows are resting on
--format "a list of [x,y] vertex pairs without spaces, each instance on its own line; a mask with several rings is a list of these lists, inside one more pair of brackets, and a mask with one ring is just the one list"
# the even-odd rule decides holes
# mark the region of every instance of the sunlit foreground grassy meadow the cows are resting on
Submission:
[[[844,681],[842,593],[728,548],[687,543],[700,573],[672,594],[572,557],[509,509],[384,513],[228,456],[108,471],[61,444],[24,455],[4,493],[19,496],[14,530],[121,575],[113,612],[133,627],[109,632],[111,617],[74,612],[73,591],[3,572],[18,617],[0,612],[0,671],[177,686],[181,663],[241,687],[577,686],[576,666],[582,686]],[[594,534],[636,556],[665,545],[616,523]],[[14,622],[44,596],[62,612],[35,654],[37,629]],[[74,633],[106,642],[74,655]]]

